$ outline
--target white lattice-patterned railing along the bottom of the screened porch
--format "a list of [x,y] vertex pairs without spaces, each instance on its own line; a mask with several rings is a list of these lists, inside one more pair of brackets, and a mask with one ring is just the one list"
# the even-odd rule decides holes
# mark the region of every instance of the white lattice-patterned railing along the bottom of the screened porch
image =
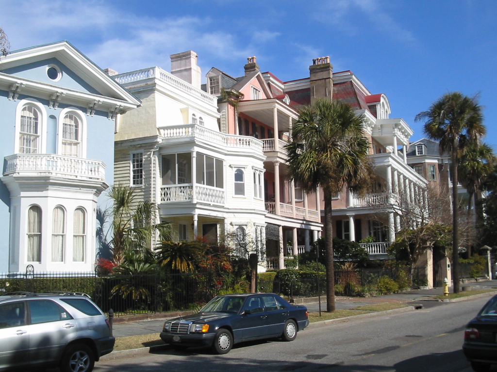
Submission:
[[161,187],[161,202],[197,201],[224,205],[226,191],[222,188],[206,185],[168,185]]

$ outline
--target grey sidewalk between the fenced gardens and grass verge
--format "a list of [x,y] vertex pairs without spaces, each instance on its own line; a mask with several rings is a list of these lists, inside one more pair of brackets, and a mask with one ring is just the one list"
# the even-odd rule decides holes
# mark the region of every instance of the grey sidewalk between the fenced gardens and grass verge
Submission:
[[[478,283],[468,283],[464,286],[470,286],[471,289],[492,289],[497,290],[497,280],[487,280]],[[462,285],[461,285],[462,288]],[[449,288],[449,292],[452,293],[452,288]],[[423,307],[439,306],[446,303],[435,301],[435,297],[443,294],[443,288],[433,288],[433,289],[414,289],[401,293],[394,293],[390,295],[376,296],[376,297],[346,297],[346,296],[336,296],[335,307],[336,309],[353,309],[358,306],[378,304],[384,302],[398,302],[407,303],[409,305],[423,305]],[[319,310],[319,302],[317,297],[305,298],[305,299],[295,299],[296,304],[304,304],[307,306],[309,312],[317,312]],[[321,310],[326,310],[326,297],[321,298]],[[165,313],[164,316],[161,314],[155,314],[154,319],[150,320],[133,320],[133,317],[126,317],[122,320],[116,318],[113,324],[114,337],[125,337],[125,336],[135,336],[150,333],[159,333],[162,330],[164,321],[172,317],[176,317],[180,314],[187,314],[191,312],[181,312],[181,313]]]

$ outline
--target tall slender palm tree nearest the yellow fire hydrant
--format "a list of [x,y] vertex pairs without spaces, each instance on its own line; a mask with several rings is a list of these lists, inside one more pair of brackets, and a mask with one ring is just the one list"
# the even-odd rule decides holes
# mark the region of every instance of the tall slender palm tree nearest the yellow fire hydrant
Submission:
[[485,135],[482,109],[477,98],[459,92],[444,94],[427,111],[416,115],[424,120],[424,132],[439,141],[440,152],[450,154],[452,174],[452,275],[454,293],[459,293],[459,212],[457,208],[458,164],[463,150]]

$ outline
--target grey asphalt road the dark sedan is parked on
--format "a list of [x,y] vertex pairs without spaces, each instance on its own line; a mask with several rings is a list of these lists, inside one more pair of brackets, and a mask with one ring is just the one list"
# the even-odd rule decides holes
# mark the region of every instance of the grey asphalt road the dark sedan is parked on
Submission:
[[95,371],[470,372],[461,351],[464,326],[488,298],[313,324],[293,342],[238,344],[224,356],[164,346],[154,354],[99,362]]

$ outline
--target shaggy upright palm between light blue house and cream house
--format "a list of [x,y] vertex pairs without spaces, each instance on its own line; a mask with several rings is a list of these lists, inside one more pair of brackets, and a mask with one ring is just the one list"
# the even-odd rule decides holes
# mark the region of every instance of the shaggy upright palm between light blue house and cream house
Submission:
[[125,185],[114,185],[108,192],[113,200],[112,230],[110,241],[113,259],[123,262],[127,252],[150,250],[153,240],[170,238],[170,224],[156,224],[157,205],[150,201],[135,201],[134,189]]

